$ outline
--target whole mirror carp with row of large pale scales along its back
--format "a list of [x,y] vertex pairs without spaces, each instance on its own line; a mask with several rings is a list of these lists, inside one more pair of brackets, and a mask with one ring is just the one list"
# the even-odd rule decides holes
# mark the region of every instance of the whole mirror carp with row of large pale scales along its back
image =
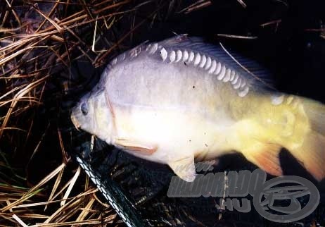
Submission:
[[188,182],[196,178],[195,161],[234,152],[281,176],[283,148],[323,179],[325,105],[278,92],[263,70],[250,68],[257,64],[200,37],[144,42],[108,63],[71,120]]

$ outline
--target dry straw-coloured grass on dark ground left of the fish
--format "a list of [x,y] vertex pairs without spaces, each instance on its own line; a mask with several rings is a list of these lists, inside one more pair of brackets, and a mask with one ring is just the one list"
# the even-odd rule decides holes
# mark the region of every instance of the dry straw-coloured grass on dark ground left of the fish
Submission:
[[[1,1],[0,226],[122,224],[70,160],[68,108],[61,103],[82,90],[73,63],[102,66],[128,48],[141,25],[153,25],[173,7],[174,1],[154,0]],[[138,20],[142,8],[152,10]],[[120,21],[127,27],[116,32]],[[49,138],[58,146],[46,147]],[[34,161],[42,152],[56,158]],[[41,171],[43,161],[48,168]]]

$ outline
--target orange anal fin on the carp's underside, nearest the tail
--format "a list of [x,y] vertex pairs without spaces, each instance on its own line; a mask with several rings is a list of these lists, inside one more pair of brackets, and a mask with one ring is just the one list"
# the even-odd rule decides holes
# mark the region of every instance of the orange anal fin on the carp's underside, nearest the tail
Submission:
[[262,168],[267,173],[274,176],[281,176],[282,168],[279,160],[280,149],[281,147],[279,145],[257,142],[254,146],[244,149],[241,152],[248,161]]

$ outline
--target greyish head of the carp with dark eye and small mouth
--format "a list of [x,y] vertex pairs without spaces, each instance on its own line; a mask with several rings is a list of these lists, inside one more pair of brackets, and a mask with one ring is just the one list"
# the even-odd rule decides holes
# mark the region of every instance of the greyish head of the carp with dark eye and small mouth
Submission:
[[72,108],[70,117],[78,130],[84,130],[109,144],[111,143],[113,114],[104,90],[85,94]]

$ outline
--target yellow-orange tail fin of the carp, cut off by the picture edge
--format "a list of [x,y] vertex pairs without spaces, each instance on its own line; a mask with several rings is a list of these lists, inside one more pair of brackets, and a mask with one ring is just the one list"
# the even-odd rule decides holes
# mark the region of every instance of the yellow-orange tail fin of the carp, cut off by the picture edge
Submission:
[[305,98],[300,98],[300,101],[310,130],[305,134],[302,145],[287,148],[320,181],[325,177],[325,105]]

